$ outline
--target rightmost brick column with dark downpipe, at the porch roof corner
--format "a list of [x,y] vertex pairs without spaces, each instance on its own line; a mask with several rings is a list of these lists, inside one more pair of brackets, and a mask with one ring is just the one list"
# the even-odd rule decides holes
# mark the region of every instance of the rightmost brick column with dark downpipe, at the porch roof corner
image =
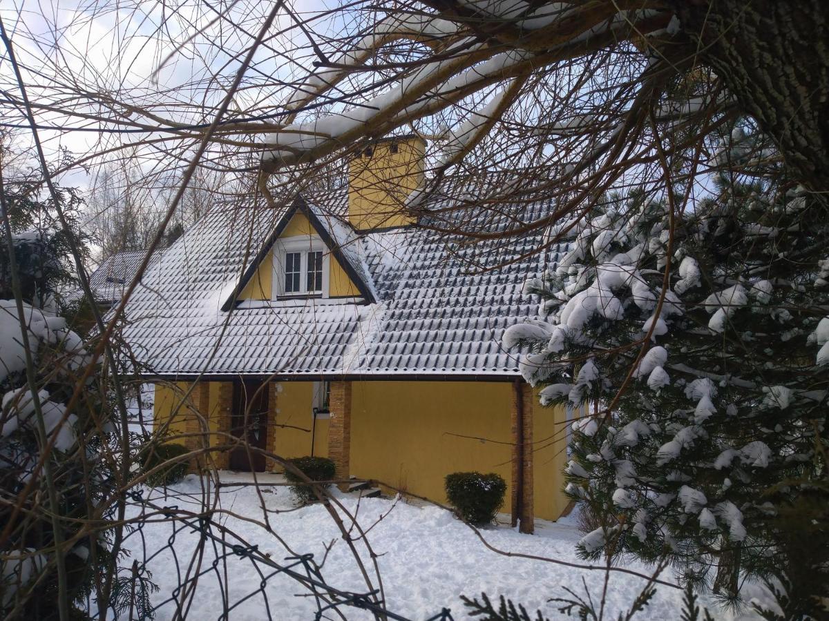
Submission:
[[532,387],[524,382],[512,384],[512,526],[520,524],[520,532],[534,530],[533,474],[532,474]]

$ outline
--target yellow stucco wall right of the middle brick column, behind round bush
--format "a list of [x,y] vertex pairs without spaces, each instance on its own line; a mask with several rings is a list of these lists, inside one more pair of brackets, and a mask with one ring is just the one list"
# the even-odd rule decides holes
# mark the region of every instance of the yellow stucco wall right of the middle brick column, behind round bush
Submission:
[[[507,481],[502,511],[508,513],[513,390],[506,382],[353,383],[351,474],[444,502],[446,474],[495,472]],[[534,411],[535,513],[557,519],[566,506],[560,493],[565,450],[539,440],[554,439],[554,419],[563,420],[564,412]]]

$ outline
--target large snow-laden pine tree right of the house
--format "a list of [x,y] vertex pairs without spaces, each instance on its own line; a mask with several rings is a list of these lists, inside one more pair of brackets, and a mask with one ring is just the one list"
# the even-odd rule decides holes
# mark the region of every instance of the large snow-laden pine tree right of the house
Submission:
[[761,139],[734,130],[694,209],[676,209],[678,183],[670,198],[608,197],[528,283],[542,316],[504,344],[529,349],[543,405],[594,412],[574,423],[566,471],[603,525],[584,557],[667,557],[726,599],[742,576],[777,578],[799,603],[787,619],[821,618],[829,214],[758,165]]

